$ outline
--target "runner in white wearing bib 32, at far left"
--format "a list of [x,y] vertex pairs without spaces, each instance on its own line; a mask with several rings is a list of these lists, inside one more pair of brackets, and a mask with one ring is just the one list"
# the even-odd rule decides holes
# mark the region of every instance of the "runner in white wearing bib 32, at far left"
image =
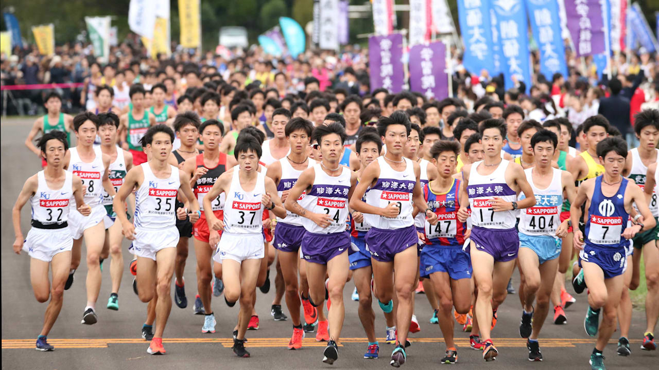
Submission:
[[[84,202],[85,190],[80,177],[63,169],[69,149],[67,134],[58,130],[47,132],[37,145],[47,165],[43,171],[30,176],[18,194],[12,209],[16,235],[13,248],[16,254],[25,250],[30,255],[30,280],[37,302],[43,303],[50,298],[36,350],[52,351],[55,347],[48,344],[46,336],[62,309],[67,269],[71,267],[73,238],[67,223],[70,199],[75,199],[77,210],[83,217],[89,216],[92,208]],[[23,238],[20,210],[28,201],[32,207],[32,228],[27,238]],[[53,274],[52,286],[48,277],[49,265]]]

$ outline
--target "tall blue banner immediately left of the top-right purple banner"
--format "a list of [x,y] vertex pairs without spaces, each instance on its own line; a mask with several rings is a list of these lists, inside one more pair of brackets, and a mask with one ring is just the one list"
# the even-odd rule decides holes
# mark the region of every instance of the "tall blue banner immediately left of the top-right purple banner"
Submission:
[[556,0],[526,0],[533,38],[540,52],[540,73],[548,81],[558,72],[567,77],[565,47]]

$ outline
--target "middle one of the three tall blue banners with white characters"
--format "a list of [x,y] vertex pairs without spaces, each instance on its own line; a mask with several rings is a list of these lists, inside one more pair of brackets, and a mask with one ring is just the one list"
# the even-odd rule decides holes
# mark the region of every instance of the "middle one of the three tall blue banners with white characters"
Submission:
[[505,89],[516,87],[517,81],[524,81],[528,92],[532,81],[527,10],[524,1],[496,0],[492,3],[492,7],[498,23]]

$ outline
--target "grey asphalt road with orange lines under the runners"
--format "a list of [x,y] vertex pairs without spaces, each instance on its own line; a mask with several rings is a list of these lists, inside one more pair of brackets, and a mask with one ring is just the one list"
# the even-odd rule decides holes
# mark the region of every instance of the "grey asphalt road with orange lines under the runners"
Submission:
[[[202,334],[203,317],[192,314],[191,301],[194,298],[192,286],[194,276],[194,249],[190,248],[185,277],[188,281],[187,294],[190,305],[179,309],[175,305],[165,329],[166,356],[146,354],[148,343],[140,337],[140,329],[146,315],[146,305],[133,294],[130,282],[132,276],[125,271],[119,291],[119,311],[105,309],[110,290],[107,262],[103,271],[103,284],[98,302],[96,325],[80,325],[82,311],[86,304],[84,277],[86,266],[84,257],[76,280],[65,292],[64,306],[57,323],[49,334],[49,342],[56,346],[55,352],[36,352],[34,340],[42,327],[46,304],[38,304],[30,286],[30,259],[25,254],[15,255],[11,245],[14,234],[11,226],[11,207],[24,180],[40,170],[40,161],[22,144],[32,120],[3,119],[0,124],[1,144],[1,190],[2,190],[2,368],[3,369],[318,369],[331,366],[321,362],[324,344],[317,343],[314,336],[304,340],[302,350],[287,351],[285,346],[292,328],[290,321],[273,321],[270,304],[274,287],[269,294],[258,292],[256,310],[260,316],[260,329],[248,331],[246,344],[252,353],[249,359],[239,359],[231,352],[231,331],[235,325],[238,307],[229,308],[222,298],[214,298],[213,308],[217,319],[215,334]],[[23,232],[29,229],[30,210],[22,213]],[[126,266],[130,261],[127,243],[124,243]],[[272,273],[271,278],[274,278]],[[518,283],[515,275],[513,282]],[[346,315],[343,326],[339,359],[333,367],[343,369],[383,369],[389,368],[392,346],[380,338],[380,359],[366,360],[362,356],[366,350],[366,338],[357,316],[357,302],[350,300],[353,284],[345,289]],[[570,288],[571,290],[571,288]],[[593,338],[583,329],[583,315],[587,305],[585,296],[577,296],[577,304],[567,309],[567,325],[554,325],[551,315],[540,338],[540,348],[544,363],[529,363],[525,340],[519,338],[519,316],[521,307],[517,296],[509,296],[499,309],[499,321],[493,332],[495,344],[500,350],[497,361],[485,363],[480,352],[469,349],[469,336],[461,332],[457,325],[456,342],[459,348],[458,366],[463,369],[488,367],[490,369],[528,369],[530,367],[552,367],[558,369],[588,369],[588,358]],[[284,312],[288,313],[285,305]],[[378,336],[384,336],[384,319],[376,311]],[[428,320],[432,310],[426,298],[416,295],[416,315],[421,323],[421,331],[411,335],[413,346],[409,348],[407,369],[430,369],[439,365],[445,346],[437,325]],[[645,313],[635,310],[631,327],[630,357],[616,356],[617,336],[606,348],[606,365],[609,369],[656,369],[658,354],[639,349]],[[654,363],[655,365],[652,365]]]

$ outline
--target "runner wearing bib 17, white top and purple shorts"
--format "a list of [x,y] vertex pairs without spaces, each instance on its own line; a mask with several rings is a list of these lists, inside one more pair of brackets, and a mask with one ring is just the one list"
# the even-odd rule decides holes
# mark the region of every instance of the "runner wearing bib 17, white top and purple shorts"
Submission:
[[[474,313],[478,323],[490,323],[505,300],[519,248],[515,210],[535,205],[532,188],[521,166],[501,158],[505,133],[503,120],[484,120],[480,124],[480,134],[485,159],[465,165],[462,171],[458,220],[467,221],[469,204],[473,216],[471,263],[478,290]],[[526,198],[517,202],[520,192]],[[492,361],[498,356],[498,350],[492,343],[491,328],[481,325],[479,329],[482,338],[486,338],[482,346],[483,359]]]

